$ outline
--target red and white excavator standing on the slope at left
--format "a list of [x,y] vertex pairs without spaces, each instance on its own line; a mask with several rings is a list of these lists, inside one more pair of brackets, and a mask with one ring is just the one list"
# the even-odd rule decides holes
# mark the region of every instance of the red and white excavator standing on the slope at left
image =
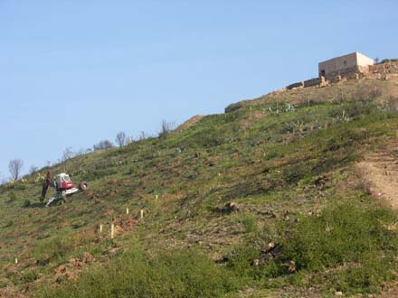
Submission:
[[43,183],[42,198],[40,201],[44,200],[49,186],[55,189],[55,194],[45,204],[47,207],[60,200],[62,203],[66,202],[68,196],[78,191],[86,191],[89,185],[87,182],[81,182],[76,188],[69,175],[64,172],[57,174],[52,180],[52,173],[48,171]]

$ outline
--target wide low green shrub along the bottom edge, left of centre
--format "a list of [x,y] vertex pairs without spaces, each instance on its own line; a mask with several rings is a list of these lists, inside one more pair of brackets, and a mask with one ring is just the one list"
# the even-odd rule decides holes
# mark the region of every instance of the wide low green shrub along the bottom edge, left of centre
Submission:
[[223,268],[196,251],[149,256],[142,249],[86,271],[73,284],[43,289],[44,297],[220,297],[236,290]]

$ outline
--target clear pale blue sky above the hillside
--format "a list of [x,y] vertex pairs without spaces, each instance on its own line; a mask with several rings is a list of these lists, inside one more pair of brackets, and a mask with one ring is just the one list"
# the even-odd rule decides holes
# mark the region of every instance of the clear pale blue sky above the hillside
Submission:
[[396,1],[0,0],[0,180],[65,148],[156,134],[317,76],[398,57]]

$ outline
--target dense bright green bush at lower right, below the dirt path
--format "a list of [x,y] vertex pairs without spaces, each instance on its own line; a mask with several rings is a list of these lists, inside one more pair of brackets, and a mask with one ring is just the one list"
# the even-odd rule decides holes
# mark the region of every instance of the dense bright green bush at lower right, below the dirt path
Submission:
[[[357,203],[327,208],[319,217],[300,220],[283,243],[284,256],[295,260],[298,269],[313,272],[347,262],[375,261],[397,245],[386,227],[389,221],[393,213],[382,208],[365,209]],[[369,258],[370,254],[374,256]]]

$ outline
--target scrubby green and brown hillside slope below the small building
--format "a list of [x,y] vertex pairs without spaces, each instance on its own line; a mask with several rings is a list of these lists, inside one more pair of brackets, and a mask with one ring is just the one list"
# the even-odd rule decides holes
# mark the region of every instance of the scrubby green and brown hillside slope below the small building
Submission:
[[[396,274],[398,218],[355,164],[396,141],[397,97],[393,80],[359,79],[242,101],[164,137],[54,166],[90,191],[51,208],[39,202],[45,168],[1,186],[0,293],[135,296],[138,285],[109,272],[128,279],[137,272],[124,264],[139,264],[157,276],[147,260],[176,277],[159,274],[146,296],[383,291]],[[173,265],[178,254],[193,265]],[[201,262],[194,292],[175,285]]]

